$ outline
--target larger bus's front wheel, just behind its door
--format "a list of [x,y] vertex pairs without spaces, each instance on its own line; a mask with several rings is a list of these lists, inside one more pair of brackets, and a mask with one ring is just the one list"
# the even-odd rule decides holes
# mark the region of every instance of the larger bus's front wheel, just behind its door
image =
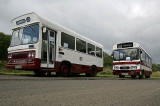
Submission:
[[67,63],[62,63],[60,66],[60,74],[64,77],[70,75],[70,65]]

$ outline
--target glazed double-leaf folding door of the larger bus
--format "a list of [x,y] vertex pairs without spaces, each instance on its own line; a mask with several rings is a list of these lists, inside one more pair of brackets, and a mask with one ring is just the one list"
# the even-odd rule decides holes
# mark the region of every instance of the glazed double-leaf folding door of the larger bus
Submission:
[[56,53],[55,45],[56,32],[49,29],[42,31],[41,67],[54,68]]

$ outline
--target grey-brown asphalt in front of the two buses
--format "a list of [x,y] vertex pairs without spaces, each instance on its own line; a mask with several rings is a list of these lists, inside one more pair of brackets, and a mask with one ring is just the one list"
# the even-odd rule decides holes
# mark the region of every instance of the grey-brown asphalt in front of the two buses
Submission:
[[0,75],[0,106],[160,106],[160,80]]

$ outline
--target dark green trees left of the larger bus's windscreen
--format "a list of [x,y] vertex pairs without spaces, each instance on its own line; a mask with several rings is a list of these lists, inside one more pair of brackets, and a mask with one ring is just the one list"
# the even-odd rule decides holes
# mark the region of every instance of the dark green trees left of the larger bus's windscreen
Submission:
[[7,59],[7,48],[10,45],[10,35],[0,32],[0,60]]

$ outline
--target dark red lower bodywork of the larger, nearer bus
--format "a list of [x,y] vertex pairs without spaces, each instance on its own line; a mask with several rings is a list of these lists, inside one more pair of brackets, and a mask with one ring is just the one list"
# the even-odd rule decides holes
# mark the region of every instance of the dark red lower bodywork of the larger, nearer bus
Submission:
[[[28,54],[35,51],[23,51],[23,52],[14,52],[12,53],[12,58],[7,59],[7,68],[14,69],[17,65],[21,65],[21,69],[24,70],[39,70],[43,72],[58,72],[61,62],[55,62],[54,69],[41,69],[40,64],[41,60],[34,57],[28,57]],[[9,54],[10,55],[10,54]],[[97,72],[103,70],[103,67],[97,67]],[[71,71],[73,73],[90,73],[91,66],[80,65],[80,64],[71,64]]]

